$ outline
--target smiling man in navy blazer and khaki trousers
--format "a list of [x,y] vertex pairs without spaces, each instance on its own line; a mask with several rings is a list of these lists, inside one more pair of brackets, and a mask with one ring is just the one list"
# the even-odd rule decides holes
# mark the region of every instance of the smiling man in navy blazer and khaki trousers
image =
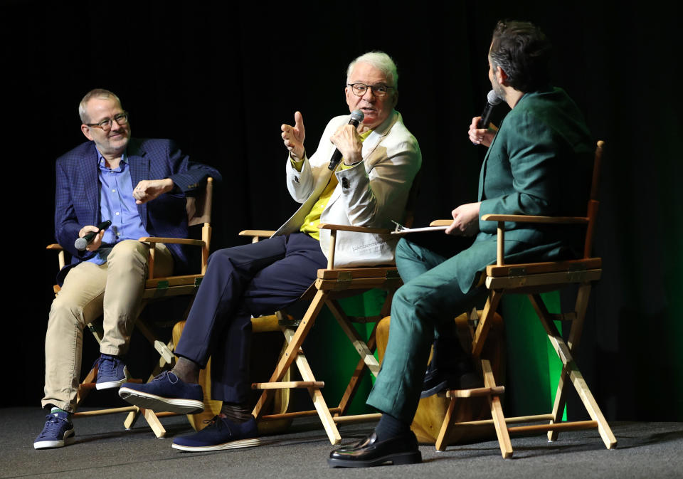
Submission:
[[[189,161],[170,140],[130,137],[128,114],[107,90],[90,91],[79,105],[83,135],[90,140],[56,163],[55,236],[71,253],[58,275],[62,285],[52,303],[46,332],[43,407],[51,413],[34,448],[73,442],[70,414],[78,391],[83,327],[103,315],[97,389],[127,379],[127,352],[147,278],[147,246],[142,236],[184,238],[188,233],[186,195],[203,187],[213,168]],[[100,231],[98,223],[110,220]],[[85,250],[78,238],[94,233]],[[181,245],[155,245],[154,273],[188,269]]]

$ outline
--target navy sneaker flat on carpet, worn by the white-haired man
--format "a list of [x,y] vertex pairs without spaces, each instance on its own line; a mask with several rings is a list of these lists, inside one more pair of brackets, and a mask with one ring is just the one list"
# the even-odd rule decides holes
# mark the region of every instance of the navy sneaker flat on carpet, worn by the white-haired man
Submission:
[[256,421],[253,418],[238,424],[221,416],[215,416],[211,421],[204,422],[208,423],[208,426],[189,436],[175,438],[171,447],[189,453],[202,453],[250,448],[260,444],[260,439],[256,437],[258,436]]

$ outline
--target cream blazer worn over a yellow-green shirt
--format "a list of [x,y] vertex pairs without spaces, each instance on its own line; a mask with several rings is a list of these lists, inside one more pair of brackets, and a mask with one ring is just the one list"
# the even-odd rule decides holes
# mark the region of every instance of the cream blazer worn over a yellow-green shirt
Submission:
[[[287,189],[302,206],[280,226],[275,235],[300,230],[327,186],[332,172],[327,168],[334,152],[330,142],[335,131],[349,122],[349,115],[334,117],[325,127],[316,152],[305,157],[301,172],[287,158]],[[339,170],[339,184],[332,192],[320,221],[369,228],[392,228],[391,221],[403,221],[408,194],[422,164],[415,137],[403,125],[395,110],[363,142],[363,161],[353,168]],[[371,266],[391,264],[396,238],[391,235],[339,231],[334,266]],[[320,247],[327,256],[329,230],[320,230]]]

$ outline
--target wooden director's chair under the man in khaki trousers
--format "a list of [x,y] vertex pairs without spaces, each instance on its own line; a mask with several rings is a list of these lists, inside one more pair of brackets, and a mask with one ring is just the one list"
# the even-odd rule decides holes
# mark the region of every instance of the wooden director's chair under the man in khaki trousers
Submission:
[[[201,228],[201,240],[187,239],[187,238],[157,238],[157,237],[143,237],[139,238],[138,241],[144,243],[149,248],[149,259],[148,259],[148,276],[145,282],[144,292],[142,293],[142,307],[141,311],[144,309],[144,305],[158,300],[160,298],[169,298],[172,296],[179,295],[193,295],[201,284],[201,279],[204,273],[206,273],[206,263],[208,261],[209,248],[211,246],[211,206],[213,202],[213,178],[209,177],[206,179],[206,186],[204,189],[204,194],[198,197],[187,198],[187,212],[188,212],[188,225],[202,225]],[[166,243],[166,244],[184,244],[188,246],[197,246],[201,248],[201,273],[194,275],[181,275],[181,276],[168,276],[163,278],[154,278],[154,243]],[[65,266],[65,252],[63,248],[58,244],[51,244],[47,246],[48,250],[58,251],[58,263],[59,268]],[[54,286],[55,294],[58,293],[60,287],[58,285]],[[185,316],[187,315],[186,311]],[[159,353],[159,361],[154,366],[152,374],[149,375],[147,381],[151,381],[160,372],[168,367],[171,367],[175,362],[174,355],[174,343],[173,340],[168,343],[162,342],[154,335],[152,332],[151,325],[147,324],[142,318],[138,318],[135,322],[135,328],[142,333],[142,335],[147,338],[152,347]],[[102,325],[99,322],[91,322],[88,324],[88,329],[92,332],[98,343],[102,341]],[[95,389],[95,379],[97,378],[97,368],[93,368],[88,372],[83,379],[83,382],[78,387],[78,393],[76,396],[76,408],[85,399],[86,396]],[[139,379],[132,379],[133,382],[142,382]],[[118,408],[109,409],[98,409],[95,411],[83,411],[76,412],[73,414],[75,417],[80,416],[101,416],[103,414],[117,414],[117,413],[128,413],[124,421],[124,426],[126,429],[130,429],[134,426],[134,423],[142,414],[145,421],[157,438],[162,438],[166,435],[166,429],[159,421],[160,417],[164,416],[176,416],[174,413],[155,413],[151,409],[144,409],[138,406],[124,406]]]

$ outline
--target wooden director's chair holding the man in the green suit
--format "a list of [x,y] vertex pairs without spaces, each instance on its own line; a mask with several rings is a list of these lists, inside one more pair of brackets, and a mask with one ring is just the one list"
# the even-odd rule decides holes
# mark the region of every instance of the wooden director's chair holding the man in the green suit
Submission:
[[[595,164],[593,165],[593,182],[591,186],[591,199],[588,201],[588,213],[585,217],[551,217],[551,216],[522,216],[522,215],[499,215],[487,214],[482,216],[483,221],[497,221],[497,263],[486,268],[486,288],[489,290],[486,305],[476,329],[472,331],[472,355],[480,360],[484,387],[479,389],[448,391],[451,398],[448,412],[443,421],[436,448],[444,451],[448,446],[448,436],[453,428],[472,424],[493,423],[498,437],[500,450],[504,458],[512,457],[512,443],[510,433],[534,433],[547,431],[549,441],[555,441],[560,431],[597,428],[605,447],[611,449],[617,441],[597,402],[588,389],[585,379],[581,375],[573,354],[576,352],[581,339],[583,321],[588,307],[588,298],[591,293],[591,284],[600,279],[602,274],[602,261],[600,258],[591,258],[593,235],[595,232],[595,219],[598,213],[598,181],[600,175],[600,162],[603,155],[604,142],[598,142],[595,149]],[[578,260],[551,261],[544,263],[521,263],[506,264],[504,259],[504,236],[505,222],[517,223],[544,223],[556,225],[585,225],[586,241],[584,244],[583,258]],[[439,220],[433,225],[448,223],[450,220]],[[571,312],[563,314],[551,314],[541,299],[541,293],[558,290],[566,286],[578,286],[576,304]],[[526,294],[538,315],[541,325],[544,327],[548,339],[562,362],[562,372],[558,381],[553,411],[550,414],[535,416],[522,416],[506,418],[503,414],[500,396],[504,393],[504,386],[496,384],[489,361],[482,357],[482,348],[487,339],[490,321],[504,294]],[[565,342],[560,332],[554,325],[554,320],[571,322],[568,340]],[[583,406],[586,408],[591,421],[568,421],[563,422],[562,416],[566,404],[571,383],[576,389]],[[492,419],[488,421],[471,421],[470,423],[452,422],[452,410],[458,399],[486,396],[489,401]],[[545,422],[541,424],[525,426],[507,426],[509,423]]]

